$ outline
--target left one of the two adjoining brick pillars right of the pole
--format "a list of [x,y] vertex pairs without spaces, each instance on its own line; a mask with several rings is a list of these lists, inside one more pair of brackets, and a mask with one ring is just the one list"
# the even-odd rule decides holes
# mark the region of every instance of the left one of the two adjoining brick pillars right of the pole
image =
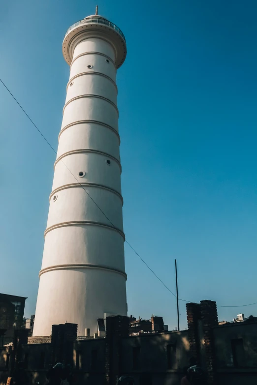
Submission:
[[201,319],[200,304],[190,302],[186,304],[186,307],[190,353],[191,356],[196,359],[196,362],[200,364],[200,341],[198,333],[198,321]]

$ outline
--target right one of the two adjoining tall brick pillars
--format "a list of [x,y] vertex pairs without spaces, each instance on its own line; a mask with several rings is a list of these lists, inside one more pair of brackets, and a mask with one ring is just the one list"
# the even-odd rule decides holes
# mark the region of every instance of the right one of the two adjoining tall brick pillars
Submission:
[[215,385],[215,354],[213,327],[218,326],[217,305],[215,301],[200,301],[201,319],[203,324],[204,347],[206,355],[206,371],[208,384]]

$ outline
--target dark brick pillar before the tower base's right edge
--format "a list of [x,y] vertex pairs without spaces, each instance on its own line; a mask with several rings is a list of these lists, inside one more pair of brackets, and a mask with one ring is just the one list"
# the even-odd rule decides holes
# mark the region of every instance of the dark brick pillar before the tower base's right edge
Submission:
[[122,338],[128,337],[129,318],[115,316],[106,318],[105,382],[116,385],[121,372]]

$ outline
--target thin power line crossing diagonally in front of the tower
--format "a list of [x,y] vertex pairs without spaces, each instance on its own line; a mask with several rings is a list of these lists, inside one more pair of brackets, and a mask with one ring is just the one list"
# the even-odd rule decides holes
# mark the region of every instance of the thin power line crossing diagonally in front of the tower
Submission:
[[[18,102],[18,100],[14,97],[14,95],[11,93],[11,91],[7,88],[7,86],[3,83],[3,81],[0,79],[0,82],[2,83],[2,85],[5,87],[5,89],[7,89],[7,91],[9,92],[9,94],[13,97],[13,99],[16,101],[16,103],[18,104],[18,106],[22,109],[22,111],[24,112],[24,114],[27,116],[27,118],[30,119],[30,121],[32,122],[33,126],[36,128],[36,130],[39,132],[39,134],[42,136],[42,138],[46,141],[46,143],[48,144],[48,146],[50,146],[52,148],[52,150],[55,152],[55,154],[57,155],[57,152],[56,150],[51,146],[51,144],[48,142],[48,140],[46,139],[46,137],[42,134],[42,132],[39,130],[39,128],[35,125],[35,123],[33,122],[33,120],[29,117],[29,115],[27,114],[27,112],[22,108],[22,106],[20,105],[20,103]],[[101,211],[101,213],[105,216],[105,218],[110,222],[110,224],[113,226],[113,228],[118,231],[120,233],[120,230],[117,229],[114,224],[111,222],[111,220],[106,216],[106,214],[102,211],[102,209],[97,205],[97,203],[94,201],[94,199],[89,195],[89,193],[85,190],[85,188],[83,187],[83,185],[79,182],[79,180],[75,177],[75,175],[70,171],[70,169],[66,166],[66,164],[64,163],[64,161],[62,159],[60,159],[64,166],[66,167],[66,169],[70,172],[70,174],[76,179],[76,181],[78,182],[78,184],[83,188],[83,190],[85,191],[85,193],[89,196],[89,198],[95,203],[96,207],[99,208],[99,210]],[[175,298],[177,298],[177,296],[175,296],[174,293],[172,293],[172,291],[164,284],[164,282],[161,280],[161,278],[158,277],[158,275],[151,269],[151,267],[149,267],[147,265],[147,263],[143,260],[142,257],[140,257],[140,255],[135,251],[135,249],[130,245],[130,243],[127,241],[127,239],[125,239],[125,242],[128,244],[128,246],[133,250],[133,252],[140,258],[140,260],[145,264],[146,267],[149,268],[149,270],[156,276],[156,278],[162,283],[162,285],[172,294],[172,296],[174,296]],[[183,301],[183,302],[193,302],[193,301],[188,301],[186,299],[181,299],[181,298],[178,298],[180,301]],[[243,306],[251,306],[251,305],[256,305],[257,302],[254,302],[254,303],[250,303],[250,304],[247,304],[247,305],[235,305],[235,306],[223,306],[223,305],[217,305],[217,307],[243,307]]]

